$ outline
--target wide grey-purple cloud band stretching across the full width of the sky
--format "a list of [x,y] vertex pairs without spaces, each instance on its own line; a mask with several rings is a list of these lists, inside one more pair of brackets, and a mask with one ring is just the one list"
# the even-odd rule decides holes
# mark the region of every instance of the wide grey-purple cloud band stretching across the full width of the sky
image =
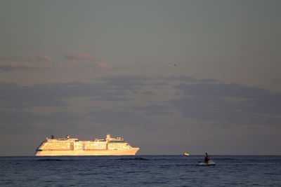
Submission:
[[[74,112],[82,115],[88,122],[93,119],[97,123],[114,123],[111,116],[131,116],[131,120],[141,116],[157,119],[158,115],[177,115],[184,118],[208,121],[216,125],[280,125],[281,93],[270,92],[262,88],[254,88],[239,84],[202,83],[200,80],[182,80],[182,78],[152,78],[146,76],[110,76],[96,79],[96,83],[48,83],[31,86],[20,86],[13,83],[0,82],[0,109],[5,111],[25,109],[34,106],[65,107],[65,112],[74,112],[70,98],[82,97],[86,101],[84,109]],[[164,84],[163,84],[164,81]],[[153,85],[161,83],[163,88]],[[159,90],[160,89],[160,90]],[[178,95],[159,95],[159,92],[179,92]],[[153,92],[153,95],[139,93]],[[84,98],[83,98],[84,97]],[[83,102],[82,102],[83,103]],[[86,106],[98,103],[100,108]],[[66,107],[67,106],[67,107]],[[108,109],[110,106],[110,110]],[[108,113],[105,113],[108,112]],[[17,118],[15,113],[15,118]],[[55,116],[58,115],[58,116]],[[63,122],[61,114],[53,114],[52,119]],[[68,115],[68,114],[67,114]],[[74,114],[73,114],[74,115]],[[101,115],[101,116],[99,116]],[[111,119],[107,119],[110,116]],[[77,117],[77,118],[78,118]],[[22,118],[22,117],[20,117]],[[35,118],[32,117],[31,118]],[[37,118],[37,117],[36,117]],[[46,122],[46,118],[43,118]],[[75,121],[75,120],[74,120]],[[11,121],[10,121],[11,122]],[[4,122],[3,122],[4,123]],[[81,120],[83,123],[83,120]]]

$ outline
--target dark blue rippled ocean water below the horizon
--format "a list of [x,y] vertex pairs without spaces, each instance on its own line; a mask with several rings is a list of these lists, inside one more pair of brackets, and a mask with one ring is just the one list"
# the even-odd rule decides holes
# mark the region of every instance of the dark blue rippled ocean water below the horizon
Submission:
[[0,186],[281,186],[280,155],[0,157]]

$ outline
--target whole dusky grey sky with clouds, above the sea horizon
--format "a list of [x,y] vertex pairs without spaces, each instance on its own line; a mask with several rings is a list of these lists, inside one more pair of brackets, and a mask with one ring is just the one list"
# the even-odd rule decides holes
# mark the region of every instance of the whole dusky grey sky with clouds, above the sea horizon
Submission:
[[280,155],[281,1],[0,1],[0,155]]

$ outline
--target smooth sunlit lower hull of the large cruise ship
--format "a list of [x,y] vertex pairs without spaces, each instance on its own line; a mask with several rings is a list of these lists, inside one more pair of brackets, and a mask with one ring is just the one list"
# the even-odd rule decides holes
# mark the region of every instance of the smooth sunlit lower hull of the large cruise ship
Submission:
[[60,155],[136,155],[140,148],[129,150],[58,150],[58,151],[37,151],[36,156],[60,156]]

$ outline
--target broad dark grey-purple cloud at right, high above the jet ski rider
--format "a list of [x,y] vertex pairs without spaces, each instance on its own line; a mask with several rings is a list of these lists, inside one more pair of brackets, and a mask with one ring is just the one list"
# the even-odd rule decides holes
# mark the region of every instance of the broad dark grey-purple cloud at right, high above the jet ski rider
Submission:
[[172,106],[188,118],[214,120],[221,124],[280,124],[281,93],[238,84],[178,84],[182,95]]

